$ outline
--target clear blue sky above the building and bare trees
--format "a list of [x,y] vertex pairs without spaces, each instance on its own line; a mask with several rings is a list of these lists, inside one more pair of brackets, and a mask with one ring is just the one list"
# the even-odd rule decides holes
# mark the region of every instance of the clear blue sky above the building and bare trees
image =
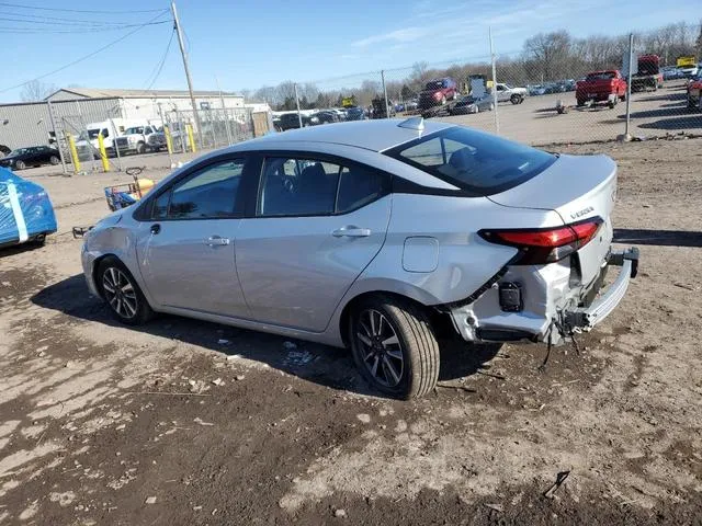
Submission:
[[[127,13],[27,10],[0,2],[0,20],[16,15],[20,20],[44,22],[23,23],[16,19],[0,22],[3,37],[0,102],[20,99],[21,88],[8,88],[57,69],[132,31],[75,32],[84,26],[76,22],[58,27],[52,25],[49,18],[138,24],[158,13],[135,11],[169,7],[160,0],[10,3],[87,11],[114,8]],[[684,19],[697,23],[689,15],[700,13],[699,8],[699,0],[676,0],[675,4],[655,0],[178,1],[195,89],[216,89],[218,79],[225,91],[256,89],[287,79],[308,81],[410,67],[419,60],[432,64],[484,57],[489,54],[488,26],[492,27],[499,55],[521,49],[523,41],[539,32],[565,28],[574,36],[587,36],[648,30]],[[55,31],[69,27],[71,32],[8,33],[9,27],[18,26]],[[58,87],[146,88],[170,34],[168,23],[145,27],[43,81]],[[173,39],[154,88],[185,85],[178,43]]]

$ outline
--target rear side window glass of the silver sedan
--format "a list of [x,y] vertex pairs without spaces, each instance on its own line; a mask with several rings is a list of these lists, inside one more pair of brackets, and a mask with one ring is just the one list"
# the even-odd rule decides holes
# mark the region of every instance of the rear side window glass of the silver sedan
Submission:
[[269,158],[263,165],[257,215],[347,214],[387,192],[386,174],[358,164],[305,158]]

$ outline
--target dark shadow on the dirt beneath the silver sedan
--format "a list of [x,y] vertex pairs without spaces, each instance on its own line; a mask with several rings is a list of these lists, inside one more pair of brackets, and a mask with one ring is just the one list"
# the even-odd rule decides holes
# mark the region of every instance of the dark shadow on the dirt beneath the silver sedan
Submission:
[[[43,288],[31,297],[31,301],[71,318],[105,325],[106,330],[121,328],[163,338],[165,347],[169,345],[168,341],[176,340],[223,356],[256,361],[332,389],[380,396],[356,371],[348,350],[168,315],[160,315],[140,327],[123,325],[112,318],[105,304],[89,295],[82,274]],[[440,346],[440,381],[475,374],[489,375],[487,363],[500,350],[500,345],[467,345],[449,332],[441,338]]]

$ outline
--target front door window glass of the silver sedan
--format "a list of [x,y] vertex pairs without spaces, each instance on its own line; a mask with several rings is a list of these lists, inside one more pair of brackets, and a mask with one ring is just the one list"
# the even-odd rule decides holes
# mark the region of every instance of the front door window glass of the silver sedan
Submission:
[[176,183],[154,201],[152,219],[233,217],[244,159],[216,162]]

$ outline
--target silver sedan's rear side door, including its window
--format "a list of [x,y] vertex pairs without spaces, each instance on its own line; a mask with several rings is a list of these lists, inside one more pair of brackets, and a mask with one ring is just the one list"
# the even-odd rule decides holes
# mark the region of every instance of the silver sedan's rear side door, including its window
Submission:
[[313,155],[263,162],[256,217],[241,221],[237,271],[253,319],[321,332],[378,253],[389,178]]

